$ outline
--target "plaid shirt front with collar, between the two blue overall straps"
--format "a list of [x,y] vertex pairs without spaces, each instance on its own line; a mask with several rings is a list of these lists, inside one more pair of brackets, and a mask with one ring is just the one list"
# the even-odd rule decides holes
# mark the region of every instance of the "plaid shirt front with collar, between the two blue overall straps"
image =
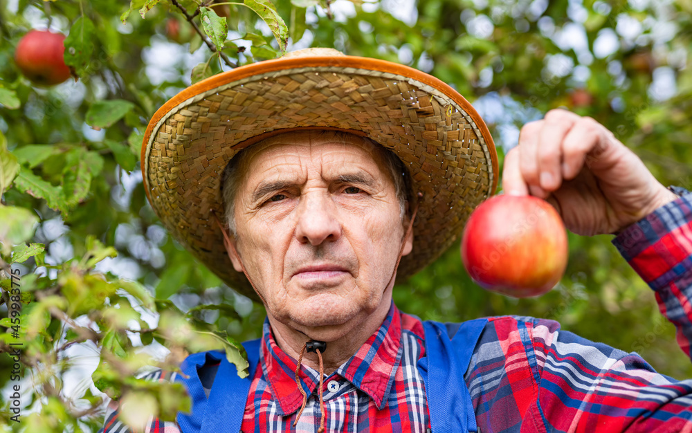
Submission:
[[[416,362],[424,356],[423,324],[392,304],[379,331],[323,380],[325,427],[329,432],[425,432],[430,427],[423,381]],[[296,360],[274,341],[264,324],[260,367],[250,387],[243,432],[316,432],[320,425],[319,372],[301,366],[309,398],[298,419],[302,395],[295,386]],[[351,426],[351,427],[349,427]]]

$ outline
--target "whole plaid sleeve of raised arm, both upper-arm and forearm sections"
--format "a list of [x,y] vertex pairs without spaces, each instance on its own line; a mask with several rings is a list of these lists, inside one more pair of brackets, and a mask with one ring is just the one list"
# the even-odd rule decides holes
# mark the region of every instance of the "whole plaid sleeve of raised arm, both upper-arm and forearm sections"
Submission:
[[[655,291],[690,355],[692,338],[692,194],[630,225],[614,245]],[[529,324],[536,354],[536,413],[547,430],[692,432],[692,380],[658,374],[637,353],[561,331],[556,322]]]

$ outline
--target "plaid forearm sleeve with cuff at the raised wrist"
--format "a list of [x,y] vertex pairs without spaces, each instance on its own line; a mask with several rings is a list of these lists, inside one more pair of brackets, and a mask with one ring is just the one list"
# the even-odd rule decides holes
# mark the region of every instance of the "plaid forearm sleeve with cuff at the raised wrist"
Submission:
[[623,230],[612,243],[653,289],[676,340],[692,356],[692,194],[655,210]]

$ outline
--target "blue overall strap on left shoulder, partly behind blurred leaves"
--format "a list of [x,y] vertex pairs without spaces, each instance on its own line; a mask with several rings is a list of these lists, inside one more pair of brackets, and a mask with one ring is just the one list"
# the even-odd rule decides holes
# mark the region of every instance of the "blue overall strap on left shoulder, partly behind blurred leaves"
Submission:
[[[208,351],[193,353],[185,358],[181,370],[188,376],[176,378],[176,382],[184,383],[192,399],[190,414],[178,413],[176,421],[183,433],[225,433],[240,431],[245,413],[245,403],[248,399],[250,385],[255,376],[257,362],[260,361],[260,339],[243,343],[248,353],[249,374],[242,379],[238,376],[234,364],[226,360],[223,351]],[[209,360],[209,358],[211,360]],[[209,398],[207,398],[201,380],[199,367],[205,363],[219,362]]]

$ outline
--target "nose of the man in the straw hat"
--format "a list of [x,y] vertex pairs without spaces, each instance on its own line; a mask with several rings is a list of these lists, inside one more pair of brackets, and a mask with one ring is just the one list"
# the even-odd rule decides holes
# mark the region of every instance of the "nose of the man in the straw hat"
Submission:
[[336,206],[329,198],[328,192],[305,194],[300,199],[297,211],[295,237],[300,243],[318,246],[325,241],[336,241],[341,236]]

